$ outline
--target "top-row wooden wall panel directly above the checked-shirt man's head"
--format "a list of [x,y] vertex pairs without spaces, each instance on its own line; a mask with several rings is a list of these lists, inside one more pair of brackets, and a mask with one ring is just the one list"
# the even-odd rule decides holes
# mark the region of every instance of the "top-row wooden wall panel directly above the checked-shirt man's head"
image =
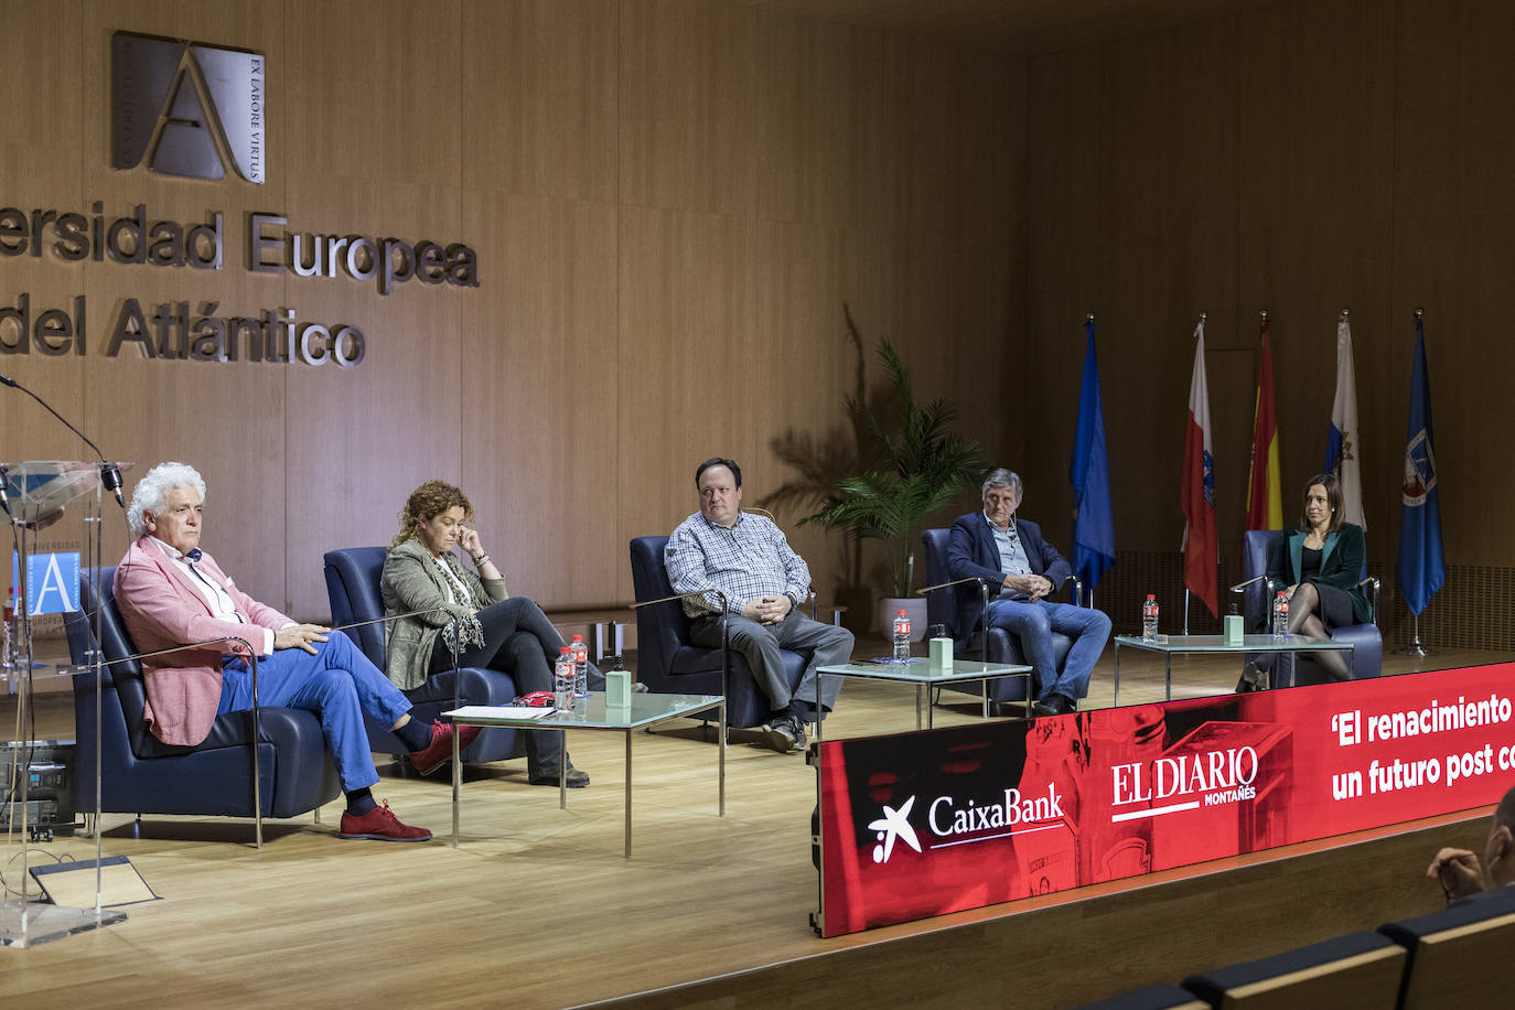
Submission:
[[711,0],[621,5],[621,201],[751,212],[758,14]]

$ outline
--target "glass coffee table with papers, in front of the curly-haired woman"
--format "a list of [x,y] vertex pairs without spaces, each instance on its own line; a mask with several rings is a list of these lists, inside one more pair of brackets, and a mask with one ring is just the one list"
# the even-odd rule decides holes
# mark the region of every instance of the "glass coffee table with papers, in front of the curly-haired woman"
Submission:
[[[715,724],[721,727],[721,743],[717,748],[718,810],[726,816],[726,698],[721,695],[659,695],[632,694],[627,706],[608,706],[604,692],[592,692],[579,698],[573,712],[551,710],[547,715],[527,715],[523,709],[491,706],[464,706],[444,712],[454,727],[462,725],[508,725],[518,730],[618,730],[626,734],[626,859],[632,857],[632,734],[654,725],[709,712],[715,709]],[[568,739],[562,739],[562,760],[558,775],[558,806],[568,807]],[[453,848],[458,848],[458,800],[462,790],[462,763],[458,760],[458,734],[453,734]]]

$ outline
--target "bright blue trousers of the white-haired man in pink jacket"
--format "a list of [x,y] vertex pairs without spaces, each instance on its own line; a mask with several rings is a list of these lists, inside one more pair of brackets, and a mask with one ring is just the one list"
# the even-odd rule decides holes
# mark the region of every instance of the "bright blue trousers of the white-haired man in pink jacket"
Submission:
[[[305,709],[321,719],[326,750],[336,762],[342,792],[367,789],[379,781],[364,713],[391,727],[411,710],[411,701],[353,641],[333,631],[315,644],[315,656],[303,648],[282,648],[258,660],[258,704]],[[241,659],[221,666],[221,703],[217,713],[253,707],[253,674]]]

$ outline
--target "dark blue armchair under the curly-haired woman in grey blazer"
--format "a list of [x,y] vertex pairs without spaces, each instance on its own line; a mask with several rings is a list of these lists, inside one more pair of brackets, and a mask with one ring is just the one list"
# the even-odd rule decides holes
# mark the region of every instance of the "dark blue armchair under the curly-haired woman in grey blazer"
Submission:
[[[383,575],[383,559],[388,553],[383,547],[350,547],[339,551],[327,551],[324,557],[326,595],[332,603],[332,624],[355,624],[359,621],[377,621],[383,618],[383,597],[379,591],[379,580]],[[353,639],[374,666],[383,669],[385,663],[385,624],[365,624],[348,628],[342,634]],[[515,681],[509,674],[497,669],[479,669],[464,666],[458,671],[458,701],[465,706],[508,706],[515,698]],[[454,677],[453,671],[433,674],[420,687],[405,692],[414,706],[411,718],[430,724],[442,712],[453,707]],[[395,760],[406,753],[389,727],[382,725],[370,715],[364,715],[368,728],[368,747],[377,754],[394,754]],[[492,727],[483,730],[464,753],[465,765],[482,765],[498,762],[508,757],[520,757],[526,753],[526,740],[512,728]]]

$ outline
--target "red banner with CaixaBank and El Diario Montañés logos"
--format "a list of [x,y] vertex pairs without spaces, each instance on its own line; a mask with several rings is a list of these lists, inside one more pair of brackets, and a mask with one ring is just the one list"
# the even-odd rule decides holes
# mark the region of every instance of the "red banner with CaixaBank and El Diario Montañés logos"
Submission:
[[826,740],[854,933],[1498,801],[1515,663]]

